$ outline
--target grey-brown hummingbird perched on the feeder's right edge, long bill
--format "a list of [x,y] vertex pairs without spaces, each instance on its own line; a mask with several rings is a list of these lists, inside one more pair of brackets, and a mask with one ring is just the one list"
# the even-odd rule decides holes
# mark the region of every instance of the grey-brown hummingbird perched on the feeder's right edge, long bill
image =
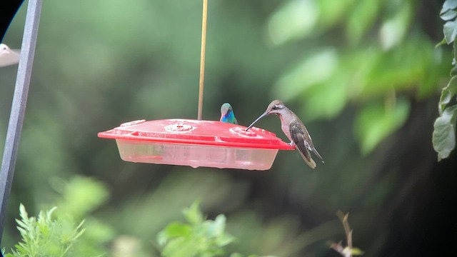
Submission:
[[[293,111],[289,110],[282,101],[272,101],[271,104],[268,105],[266,111],[261,116],[259,116],[250,126],[248,126],[248,129],[251,129],[253,124],[268,114],[276,114],[279,116],[279,119],[281,119],[281,129],[291,140],[291,146],[297,147],[298,152],[301,154],[301,157],[303,157],[303,160],[305,160],[308,166],[311,168],[316,168],[316,163],[314,162],[313,158],[311,158],[309,151],[315,153],[316,156],[318,156],[318,158],[320,158],[323,162],[323,158],[318,153],[316,148],[314,148],[311,136],[309,136],[308,131],[303,125],[303,122],[301,122],[301,120],[298,119],[298,116],[296,116]],[[246,129],[246,131],[248,131],[248,129]]]

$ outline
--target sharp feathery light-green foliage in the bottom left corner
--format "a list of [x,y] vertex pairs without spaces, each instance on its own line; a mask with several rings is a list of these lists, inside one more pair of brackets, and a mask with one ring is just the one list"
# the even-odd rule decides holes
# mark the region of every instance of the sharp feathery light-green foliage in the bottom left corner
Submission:
[[16,244],[12,253],[7,253],[6,257],[80,256],[80,253],[74,253],[74,245],[84,235],[84,221],[76,224],[53,218],[52,213],[55,210],[56,207],[46,212],[40,211],[38,218],[29,217],[26,208],[21,204],[21,220],[16,222],[22,241]]

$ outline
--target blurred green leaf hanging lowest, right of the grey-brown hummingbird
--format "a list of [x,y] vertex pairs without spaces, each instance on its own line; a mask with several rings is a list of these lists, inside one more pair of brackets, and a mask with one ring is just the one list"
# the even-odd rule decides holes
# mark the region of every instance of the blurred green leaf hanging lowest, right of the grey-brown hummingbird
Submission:
[[396,99],[395,106],[369,104],[358,114],[355,131],[363,154],[370,153],[384,138],[402,126],[409,114],[409,102]]

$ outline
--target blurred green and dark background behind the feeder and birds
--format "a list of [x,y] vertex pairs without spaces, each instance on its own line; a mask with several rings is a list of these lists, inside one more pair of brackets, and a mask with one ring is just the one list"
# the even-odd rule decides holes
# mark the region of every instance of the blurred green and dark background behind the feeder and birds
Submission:
[[[2,247],[18,241],[19,203],[35,215],[73,183],[66,208],[99,199],[81,215],[111,252],[133,242],[136,256],[158,256],[156,234],[201,198],[242,253],[338,256],[327,243],[345,239],[341,210],[366,256],[456,255],[456,153],[438,162],[431,143],[451,69],[451,47],[435,48],[442,4],[209,1],[204,119],[229,102],[248,126],[281,99],[326,161],[311,170],[279,151],[271,170],[243,171],[127,163],[97,138],[136,119],[196,119],[201,1],[44,1]],[[0,153],[16,71],[0,69]],[[275,117],[256,126],[287,141]],[[84,186],[94,181],[104,190]]]

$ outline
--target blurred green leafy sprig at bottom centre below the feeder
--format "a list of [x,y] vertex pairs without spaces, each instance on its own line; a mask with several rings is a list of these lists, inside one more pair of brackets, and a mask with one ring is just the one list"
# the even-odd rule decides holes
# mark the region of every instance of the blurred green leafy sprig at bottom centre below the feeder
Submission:
[[[224,246],[235,241],[226,233],[226,217],[216,216],[214,221],[206,220],[201,213],[200,201],[194,201],[183,211],[188,223],[172,222],[159,232],[157,242],[163,246],[162,256],[226,256]],[[231,257],[241,257],[239,253]]]

